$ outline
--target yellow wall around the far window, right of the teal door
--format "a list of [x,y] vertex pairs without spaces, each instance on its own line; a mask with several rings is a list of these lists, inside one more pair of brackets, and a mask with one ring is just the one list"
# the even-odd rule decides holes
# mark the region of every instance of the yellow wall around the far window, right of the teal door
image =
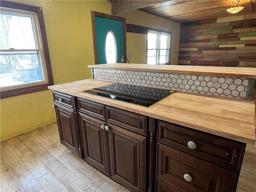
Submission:
[[[170,64],[178,64],[180,23],[164,19],[158,16],[154,16],[152,14],[148,14],[146,12],[142,12],[139,10],[123,12],[116,15],[126,18],[126,23],[128,24],[134,24],[172,32]],[[141,62],[142,58],[139,58],[137,62],[136,58],[131,58],[129,59],[131,63],[146,63],[146,35],[140,34],[140,36],[144,37],[141,40],[139,40],[139,35],[130,35],[130,33],[127,33],[127,53],[132,53],[132,57],[134,54],[140,54],[144,59],[143,62]],[[143,49],[141,49],[142,46],[144,46]]]

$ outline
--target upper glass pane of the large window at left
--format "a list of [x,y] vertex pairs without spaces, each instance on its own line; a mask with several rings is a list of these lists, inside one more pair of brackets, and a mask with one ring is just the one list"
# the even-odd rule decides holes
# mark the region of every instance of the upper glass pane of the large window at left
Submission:
[[37,49],[32,17],[0,14],[1,49]]

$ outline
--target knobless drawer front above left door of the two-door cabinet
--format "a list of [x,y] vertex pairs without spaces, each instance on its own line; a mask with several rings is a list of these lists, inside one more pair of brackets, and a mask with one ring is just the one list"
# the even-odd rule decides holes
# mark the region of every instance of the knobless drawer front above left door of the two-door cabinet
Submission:
[[100,120],[106,120],[106,112],[103,104],[78,98],[78,110]]

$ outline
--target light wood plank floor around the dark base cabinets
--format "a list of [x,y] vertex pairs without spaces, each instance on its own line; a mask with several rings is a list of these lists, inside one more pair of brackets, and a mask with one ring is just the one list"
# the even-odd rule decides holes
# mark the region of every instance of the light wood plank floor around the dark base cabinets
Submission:
[[[60,144],[56,123],[1,142],[1,192],[129,192]],[[256,146],[247,145],[236,192],[256,192]]]

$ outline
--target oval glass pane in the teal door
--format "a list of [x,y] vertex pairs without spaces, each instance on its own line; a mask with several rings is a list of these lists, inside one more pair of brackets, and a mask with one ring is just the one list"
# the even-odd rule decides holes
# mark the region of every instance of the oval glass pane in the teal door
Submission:
[[106,36],[105,53],[106,53],[107,63],[116,63],[117,61],[116,38],[112,31],[109,31]]

